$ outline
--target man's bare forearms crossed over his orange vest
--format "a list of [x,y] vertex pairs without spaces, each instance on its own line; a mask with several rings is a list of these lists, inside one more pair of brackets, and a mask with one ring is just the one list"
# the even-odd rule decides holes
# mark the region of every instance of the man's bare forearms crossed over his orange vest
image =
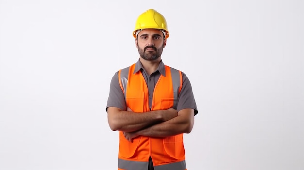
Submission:
[[181,133],[190,133],[194,124],[194,109],[186,108],[177,112],[170,108],[145,113],[135,113],[128,108],[108,108],[108,122],[115,131],[123,131],[129,141],[142,135],[149,137],[167,137]]

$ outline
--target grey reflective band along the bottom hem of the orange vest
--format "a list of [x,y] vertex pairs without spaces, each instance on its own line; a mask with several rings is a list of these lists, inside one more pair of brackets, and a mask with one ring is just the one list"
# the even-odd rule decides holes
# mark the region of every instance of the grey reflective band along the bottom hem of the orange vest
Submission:
[[[123,170],[148,170],[148,162],[118,159],[118,167]],[[158,165],[154,170],[186,170],[185,160],[165,165]]]

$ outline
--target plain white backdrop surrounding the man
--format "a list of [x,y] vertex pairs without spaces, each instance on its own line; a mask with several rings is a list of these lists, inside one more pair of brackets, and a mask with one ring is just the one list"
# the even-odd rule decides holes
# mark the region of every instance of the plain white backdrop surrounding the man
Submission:
[[303,0],[0,0],[0,170],[117,169],[109,85],[149,8],[198,105],[188,170],[303,170]]

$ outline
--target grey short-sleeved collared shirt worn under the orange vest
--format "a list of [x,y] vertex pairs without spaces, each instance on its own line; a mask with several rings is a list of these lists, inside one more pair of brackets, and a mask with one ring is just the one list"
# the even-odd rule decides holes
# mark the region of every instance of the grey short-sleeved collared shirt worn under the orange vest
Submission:
[[[140,60],[136,62],[135,65],[135,70],[134,73],[141,71],[143,77],[146,80],[147,87],[148,87],[148,93],[149,93],[149,107],[151,109],[152,106],[152,100],[153,100],[153,92],[155,85],[160,77],[160,75],[165,76],[165,65],[163,61],[160,62],[158,69],[153,72],[150,76],[147,74],[145,69],[143,68]],[[177,100],[177,111],[180,111],[185,108],[193,108],[195,115],[198,113],[197,107],[196,107],[196,102],[194,99],[194,95],[192,92],[192,86],[191,83],[186,76],[185,73],[182,72],[182,78],[183,78],[183,85],[181,92],[178,96]],[[117,107],[122,110],[127,110],[127,105],[125,101],[125,97],[123,94],[122,89],[120,88],[119,85],[119,79],[118,79],[118,71],[114,74],[111,80],[110,84],[110,93],[109,93],[109,98],[108,98],[108,103],[106,106],[106,111],[108,107]]]

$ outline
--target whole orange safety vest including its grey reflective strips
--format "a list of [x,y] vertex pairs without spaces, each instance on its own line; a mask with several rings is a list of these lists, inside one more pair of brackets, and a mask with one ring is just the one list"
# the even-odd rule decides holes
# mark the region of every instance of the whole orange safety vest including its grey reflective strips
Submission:
[[[148,88],[135,64],[119,70],[118,77],[127,107],[142,113],[150,111]],[[152,110],[176,109],[178,94],[182,88],[182,73],[165,65],[166,76],[161,75],[154,88]],[[128,81],[129,80],[129,81]],[[129,142],[119,132],[118,170],[148,170],[151,156],[154,170],[186,170],[183,134],[165,138],[138,136]]]

